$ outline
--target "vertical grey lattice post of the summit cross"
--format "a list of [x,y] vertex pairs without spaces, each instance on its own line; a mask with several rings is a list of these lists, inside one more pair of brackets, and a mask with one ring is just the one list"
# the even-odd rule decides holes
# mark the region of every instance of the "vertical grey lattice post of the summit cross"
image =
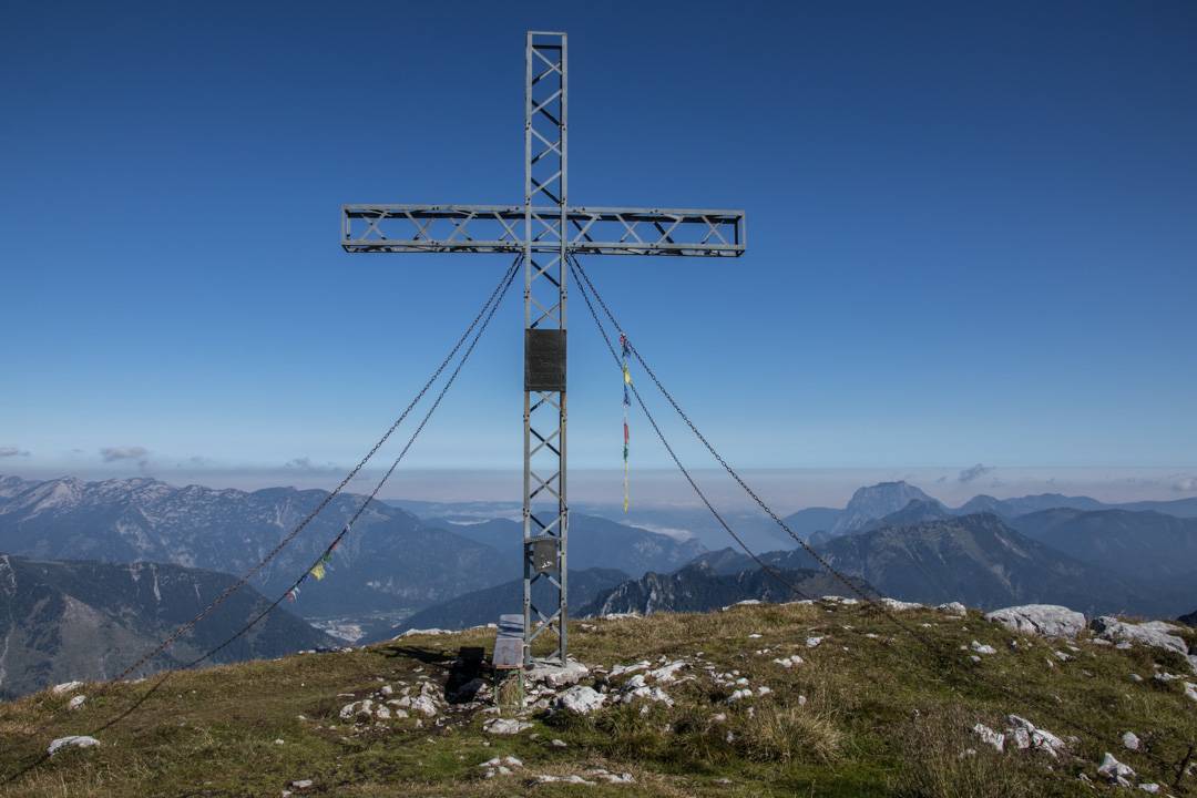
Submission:
[[[566,37],[529,31],[524,78],[524,664],[557,632],[566,659],[569,504],[565,468]],[[555,246],[554,246],[555,245]],[[533,585],[547,580],[546,614]]]

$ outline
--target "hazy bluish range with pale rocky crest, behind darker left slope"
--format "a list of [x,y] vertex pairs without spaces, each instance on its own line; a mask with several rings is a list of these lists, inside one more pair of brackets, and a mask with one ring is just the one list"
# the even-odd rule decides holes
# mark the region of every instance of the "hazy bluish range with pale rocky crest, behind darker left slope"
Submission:
[[[0,552],[44,560],[156,561],[244,573],[327,493],[296,488],[244,492],[176,488],[152,479],[85,482],[74,477],[0,479]],[[364,501],[341,494],[255,580],[280,595],[322,554]],[[630,575],[680,567],[703,547],[598,518],[571,523],[571,565]],[[394,620],[519,573],[521,528],[425,522],[372,501],[333,553],[329,577],[300,593],[309,619]]]

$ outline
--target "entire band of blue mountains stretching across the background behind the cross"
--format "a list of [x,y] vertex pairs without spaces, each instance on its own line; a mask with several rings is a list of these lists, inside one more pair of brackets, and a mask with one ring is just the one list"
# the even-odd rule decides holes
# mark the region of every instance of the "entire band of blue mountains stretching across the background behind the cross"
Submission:
[[[130,651],[147,648],[169,632],[177,622],[172,619],[190,617],[198,597],[229,584],[230,577],[212,571],[244,572],[326,497],[294,488],[176,488],[151,479],[0,477],[0,552],[16,555],[6,562],[22,585],[19,596],[0,604],[0,623],[5,607],[8,611],[7,626],[0,627],[6,629],[0,690],[66,681],[74,672],[117,672]],[[333,499],[254,586],[267,597],[279,595],[363,500],[350,494]],[[985,608],[1046,602],[1089,613],[1174,617],[1197,605],[1195,504],[1112,506],[1043,494],[976,497],[950,508],[915,486],[887,482],[861,488],[844,510],[812,507],[789,516],[788,523],[859,585],[905,601]],[[371,502],[333,553],[328,577],[309,580],[288,608],[322,628],[356,629],[346,635],[354,640],[409,628],[476,626],[518,611],[522,525],[511,511],[510,502]],[[666,511],[650,517],[670,526]],[[803,592],[847,592],[801,549],[761,556]],[[676,525],[658,534],[577,510],[571,513],[570,566],[573,614],[704,610],[789,596],[748,556],[705,550]],[[98,587],[86,592],[89,583]],[[29,603],[30,596],[50,598],[38,604]],[[238,593],[224,625],[201,632],[236,628],[261,601],[255,591]],[[265,625],[261,639],[250,635],[229,657],[273,656],[290,645],[329,641],[298,619],[278,617],[281,626]],[[183,645],[175,656],[186,659],[208,639],[188,644],[192,648]]]

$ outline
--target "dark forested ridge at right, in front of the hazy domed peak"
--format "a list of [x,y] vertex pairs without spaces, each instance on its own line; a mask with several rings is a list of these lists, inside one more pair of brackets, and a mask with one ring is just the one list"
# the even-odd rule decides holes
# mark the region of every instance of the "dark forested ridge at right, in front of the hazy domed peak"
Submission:
[[[1082,511],[1052,512],[1074,518],[1088,516]],[[1150,528],[1150,518],[1138,518],[1149,513],[1099,511],[1094,513],[1098,519],[1084,520],[1104,528],[1105,513],[1129,514]],[[1104,530],[1113,541],[1106,546],[1086,543],[1082,523],[1082,530],[1067,538],[1073,546],[1062,549],[1050,541],[1023,535],[1011,522],[994,513],[954,516],[937,502],[912,499],[881,522],[869,522],[862,531],[816,543],[814,549],[859,584],[903,601],[924,604],[958,601],[989,609],[1050,603],[1089,614],[1172,616],[1197,603],[1197,580],[1185,571],[1197,562],[1192,555],[1197,531],[1191,535],[1185,531],[1191,519],[1172,522],[1165,524],[1165,529],[1172,529],[1171,535],[1161,532],[1154,541],[1143,535],[1147,542],[1141,548],[1134,538],[1116,546],[1120,538],[1113,530]],[[1135,552],[1132,562],[1119,564],[1118,552],[1123,548]],[[801,549],[768,552],[760,558],[786,572],[813,573],[820,568]],[[1168,571],[1160,564],[1169,559],[1178,564],[1179,577],[1163,579]],[[833,593],[847,592],[838,581],[824,587]],[[778,595],[776,580],[751,558],[729,548],[707,552],[672,574],[649,573],[624,583],[587,609],[593,613],[632,611],[630,608],[642,613],[710,610],[743,599],[778,601]]]

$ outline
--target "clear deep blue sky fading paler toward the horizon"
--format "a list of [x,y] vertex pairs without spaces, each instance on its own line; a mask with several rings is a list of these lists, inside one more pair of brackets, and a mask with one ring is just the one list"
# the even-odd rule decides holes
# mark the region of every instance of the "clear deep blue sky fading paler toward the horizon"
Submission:
[[[346,255],[339,206],[518,202],[529,28],[572,202],[748,213],[740,260],[588,267],[730,459],[1197,492],[1183,1],[6,4],[0,473],[356,462],[505,261]],[[613,469],[575,298],[571,462]],[[413,468],[518,468],[517,299]]]

